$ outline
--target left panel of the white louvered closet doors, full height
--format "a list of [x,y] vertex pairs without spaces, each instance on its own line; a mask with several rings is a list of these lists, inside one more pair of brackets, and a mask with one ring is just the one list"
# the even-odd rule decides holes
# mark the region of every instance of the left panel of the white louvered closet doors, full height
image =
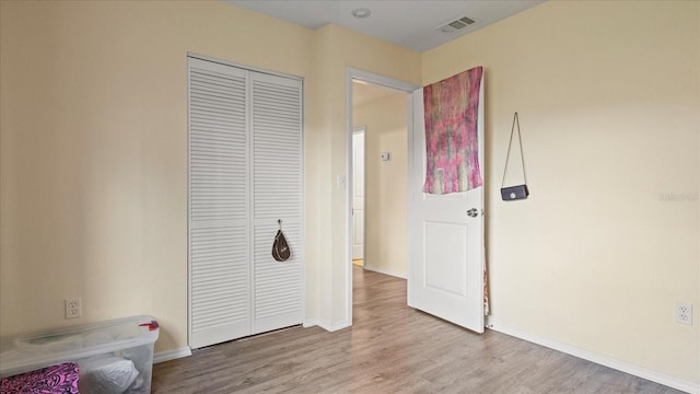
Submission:
[[189,345],[250,335],[247,71],[189,59]]

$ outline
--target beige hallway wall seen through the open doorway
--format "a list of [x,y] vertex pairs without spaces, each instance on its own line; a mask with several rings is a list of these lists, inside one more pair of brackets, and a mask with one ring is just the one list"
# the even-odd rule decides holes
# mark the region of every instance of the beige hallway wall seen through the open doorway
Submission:
[[[380,89],[380,88],[376,88]],[[352,108],[353,126],[365,132],[364,266],[406,277],[407,95],[388,95]],[[382,162],[381,152],[392,160]]]

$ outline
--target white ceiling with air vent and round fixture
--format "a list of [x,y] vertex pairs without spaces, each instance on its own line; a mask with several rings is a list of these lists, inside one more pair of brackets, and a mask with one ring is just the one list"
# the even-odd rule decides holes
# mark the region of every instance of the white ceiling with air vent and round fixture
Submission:
[[[423,53],[545,0],[223,0],[312,30],[334,23]],[[368,18],[352,11],[369,9]],[[454,33],[440,28],[468,16],[475,23]]]

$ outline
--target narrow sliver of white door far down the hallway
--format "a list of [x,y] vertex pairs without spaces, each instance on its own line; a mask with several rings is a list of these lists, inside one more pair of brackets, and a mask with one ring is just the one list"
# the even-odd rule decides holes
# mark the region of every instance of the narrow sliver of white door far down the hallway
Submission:
[[352,134],[352,259],[364,258],[364,129]]

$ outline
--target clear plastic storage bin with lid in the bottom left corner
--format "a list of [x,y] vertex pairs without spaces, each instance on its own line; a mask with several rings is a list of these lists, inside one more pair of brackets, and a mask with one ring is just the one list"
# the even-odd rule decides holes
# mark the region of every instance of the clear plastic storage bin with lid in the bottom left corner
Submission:
[[141,315],[0,339],[0,378],[72,361],[81,394],[151,392],[158,322]]

